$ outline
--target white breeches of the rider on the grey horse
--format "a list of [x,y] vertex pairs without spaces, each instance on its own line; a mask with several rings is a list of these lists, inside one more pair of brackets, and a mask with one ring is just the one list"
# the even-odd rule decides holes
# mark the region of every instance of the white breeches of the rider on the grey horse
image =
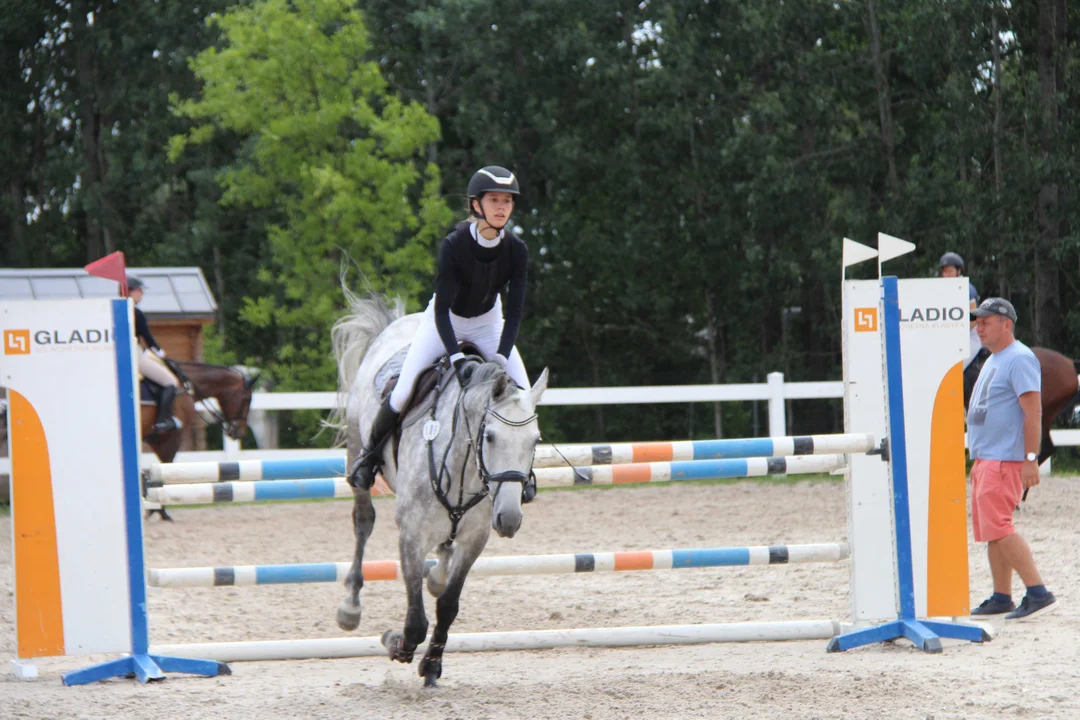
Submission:
[[[490,361],[499,351],[499,340],[502,338],[502,300],[497,298],[495,307],[483,315],[476,317],[458,317],[450,313],[450,324],[454,326],[454,335],[458,342],[468,340],[472,342],[484,354],[484,359]],[[413,338],[408,353],[405,354],[405,362],[402,364],[401,377],[393,392],[390,393],[390,407],[395,412],[401,412],[413,393],[413,385],[423,369],[435,363],[446,354],[442,338],[438,337],[438,329],[435,327],[435,298],[431,298],[428,309],[423,313],[423,321]],[[507,373],[510,379],[522,388],[530,388],[529,375],[525,370],[525,363],[514,348],[507,361]]]

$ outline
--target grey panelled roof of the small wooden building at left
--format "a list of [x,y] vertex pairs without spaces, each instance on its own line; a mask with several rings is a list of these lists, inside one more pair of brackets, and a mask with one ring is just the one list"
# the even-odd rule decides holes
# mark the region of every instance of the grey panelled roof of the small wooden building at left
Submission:
[[[199,268],[129,268],[146,284],[139,309],[148,317],[213,318],[217,303]],[[114,298],[118,285],[81,268],[0,270],[0,300]]]

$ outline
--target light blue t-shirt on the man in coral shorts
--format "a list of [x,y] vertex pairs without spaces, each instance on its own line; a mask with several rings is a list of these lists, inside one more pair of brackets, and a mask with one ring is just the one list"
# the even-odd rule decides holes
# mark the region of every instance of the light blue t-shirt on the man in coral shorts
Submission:
[[968,447],[977,460],[1024,459],[1024,410],[1020,396],[1042,390],[1042,366],[1015,340],[990,355],[968,404]]

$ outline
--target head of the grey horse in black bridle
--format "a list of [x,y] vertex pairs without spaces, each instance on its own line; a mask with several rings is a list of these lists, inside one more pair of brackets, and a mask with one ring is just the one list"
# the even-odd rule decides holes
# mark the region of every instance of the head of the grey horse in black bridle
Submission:
[[[489,369],[490,368],[490,369]],[[511,382],[497,365],[477,370],[494,376],[484,398],[486,407],[477,431],[481,475],[494,502],[491,527],[502,538],[513,538],[522,527],[522,489],[532,472],[532,456],[540,441],[537,404],[548,389],[548,369],[531,389]]]

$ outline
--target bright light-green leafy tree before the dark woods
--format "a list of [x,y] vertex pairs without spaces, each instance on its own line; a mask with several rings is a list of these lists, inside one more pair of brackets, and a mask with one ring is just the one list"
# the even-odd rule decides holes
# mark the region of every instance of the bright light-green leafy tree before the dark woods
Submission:
[[262,214],[269,243],[240,313],[272,338],[253,359],[279,390],[324,390],[336,380],[328,328],[342,309],[343,263],[414,307],[430,287],[451,219],[424,160],[438,124],[388,92],[347,0],[264,0],[211,22],[222,44],[191,62],[202,90],[177,98],[193,126],[170,157],[221,134],[238,142],[217,175],[221,202]]

